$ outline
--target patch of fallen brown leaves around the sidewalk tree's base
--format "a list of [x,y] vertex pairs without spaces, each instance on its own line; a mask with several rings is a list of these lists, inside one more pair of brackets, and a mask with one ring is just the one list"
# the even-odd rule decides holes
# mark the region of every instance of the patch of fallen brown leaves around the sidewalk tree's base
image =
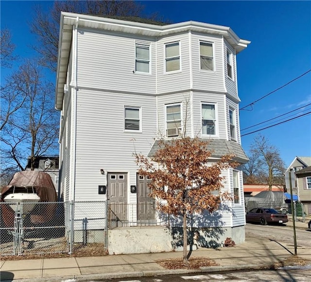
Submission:
[[182,258],[173,258],[156,261],[166,269],[200,269],[203,266],[219,265],[215,261],[205,257],[193,257],[189,259],[189,264],[184,264]]

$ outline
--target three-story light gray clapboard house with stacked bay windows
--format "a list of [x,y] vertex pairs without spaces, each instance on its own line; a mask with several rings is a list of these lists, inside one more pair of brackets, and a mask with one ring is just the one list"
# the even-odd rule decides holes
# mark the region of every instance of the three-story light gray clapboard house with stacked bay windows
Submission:
[[[151,200],[133,153],[150,155],[157,140],[185,130],[210,142],[211,162],[227,153],[247,162],[236,55],[250,41],[225,26],[128,19],[61,13],[55,107],[64,201],[104,201],[106,187],[110,204],[130,204],[114,213],[137,222],[146,215],[137,205]],[[195,226],[220,227],[215,240],[239,243],[245,238],[241,167],[222,176],[236,196],[232,212],[218,211],[218,221]]]

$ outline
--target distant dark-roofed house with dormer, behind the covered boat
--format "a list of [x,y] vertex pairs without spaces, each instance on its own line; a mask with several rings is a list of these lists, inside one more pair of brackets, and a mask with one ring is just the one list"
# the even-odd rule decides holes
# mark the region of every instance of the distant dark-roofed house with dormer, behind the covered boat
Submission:
[[[58,156],[40,156],[36,157],[34,168],[37,171],[43,171],[49,174],[55,186],[56,193],[58,192],[58,175],[59,175],[59,157]],[[27,160],[25,170],[31,170],[30,158]]]

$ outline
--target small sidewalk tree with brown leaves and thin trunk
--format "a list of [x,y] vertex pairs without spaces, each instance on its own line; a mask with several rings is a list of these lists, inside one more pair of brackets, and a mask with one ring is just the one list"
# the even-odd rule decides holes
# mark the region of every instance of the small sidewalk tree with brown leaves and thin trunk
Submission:
[[[233,155],[211,161],[208,142],[198,138],[182,137],[160,141],[160,149],[151,158],[135,154],[138,173],[151,179],[150,196],[157,200],[159,211],[183,217],[183,260],[189,264],[187,254],[187,216],[203,211],[214,212],[222,201],[232,200],[222,192],[223,170],[238,166]],[[215,191],[219,193],[216,195]]]

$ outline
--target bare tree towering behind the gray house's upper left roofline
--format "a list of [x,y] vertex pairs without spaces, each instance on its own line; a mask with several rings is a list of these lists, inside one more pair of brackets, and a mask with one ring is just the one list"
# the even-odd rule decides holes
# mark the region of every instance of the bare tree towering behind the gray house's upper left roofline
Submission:
[[[144,6],[133,0],[69,0],[54,1],[51,11],[44,11],[40,6],[35,8],[35,17],[30,25],[37,35],[38,43],[33,48],[42,55],[41,64],[56,71],[60,12],[100,16],[140,17]],[[156,19],[157,14],[145,16]]]

